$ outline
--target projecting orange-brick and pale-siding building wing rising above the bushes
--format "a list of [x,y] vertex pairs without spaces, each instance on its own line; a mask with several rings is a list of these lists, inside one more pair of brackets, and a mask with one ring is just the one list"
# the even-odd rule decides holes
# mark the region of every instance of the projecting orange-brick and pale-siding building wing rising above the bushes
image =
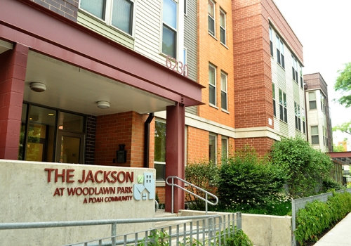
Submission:
[[232,1],[235,148],[306,138],[303,46],[274,1]]

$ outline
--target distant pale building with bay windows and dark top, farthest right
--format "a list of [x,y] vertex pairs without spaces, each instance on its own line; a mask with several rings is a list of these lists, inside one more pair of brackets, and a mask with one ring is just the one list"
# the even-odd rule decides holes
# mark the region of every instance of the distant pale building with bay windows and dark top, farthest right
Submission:
[[307,141],[322,152],[333,152],[328,85],[317,72],[304,75],[307,112]]

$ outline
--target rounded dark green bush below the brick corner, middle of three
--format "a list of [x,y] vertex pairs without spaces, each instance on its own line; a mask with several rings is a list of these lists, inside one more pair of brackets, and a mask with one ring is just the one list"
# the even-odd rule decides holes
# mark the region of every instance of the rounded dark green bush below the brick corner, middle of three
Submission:
[[282,171],[245,146],[222,162],[218,195],[222,205],[263,206],[284,185]]

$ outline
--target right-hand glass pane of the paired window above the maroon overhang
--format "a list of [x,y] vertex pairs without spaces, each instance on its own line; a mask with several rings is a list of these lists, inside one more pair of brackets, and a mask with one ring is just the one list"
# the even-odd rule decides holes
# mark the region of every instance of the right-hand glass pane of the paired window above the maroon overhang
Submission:
[[131,34],[133,21],[133,3],[126,0],[114,0],[112,10],[112,25]]

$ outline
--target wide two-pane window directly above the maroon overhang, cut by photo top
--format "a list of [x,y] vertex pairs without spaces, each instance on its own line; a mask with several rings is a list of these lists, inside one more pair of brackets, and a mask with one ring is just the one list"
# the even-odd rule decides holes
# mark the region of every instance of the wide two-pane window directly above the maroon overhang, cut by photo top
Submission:
[[81,0],[80,8],[104,20],[107,25],[132,34],[133,1],[130,0]]

